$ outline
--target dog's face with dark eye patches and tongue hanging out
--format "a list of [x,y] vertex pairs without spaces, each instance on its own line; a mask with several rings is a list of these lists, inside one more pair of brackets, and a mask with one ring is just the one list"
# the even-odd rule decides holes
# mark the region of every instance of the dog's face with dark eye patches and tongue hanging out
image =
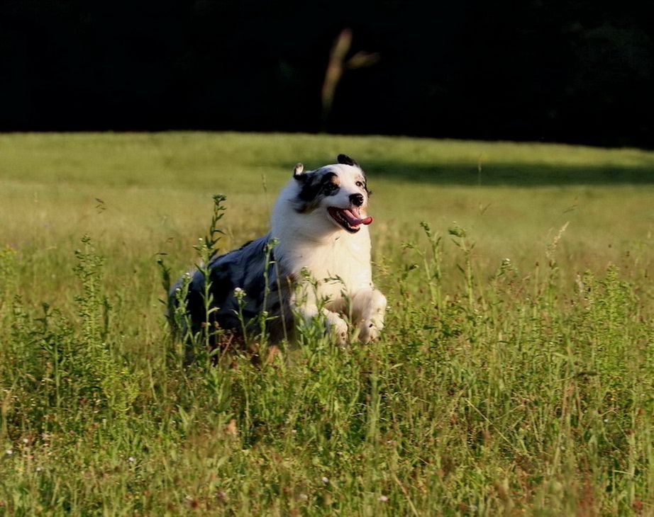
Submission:
[[318,220],[324,217],[352,234],[372,222],[372,217],[366,215],[370,191],[365,174],[345,154],[338,155],[338,164],[315,171],[304,172],[304,166],[297,164],[293,177],[299,187],[293,200],[296,212]]

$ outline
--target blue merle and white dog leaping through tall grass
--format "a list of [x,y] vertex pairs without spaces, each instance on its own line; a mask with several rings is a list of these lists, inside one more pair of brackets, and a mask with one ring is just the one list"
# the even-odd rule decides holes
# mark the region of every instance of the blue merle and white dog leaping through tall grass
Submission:
[[[238,333],[239,310],[245,324],[266,311],[273,340],[316,317],[340,344],[348,341],[348,322],[355,339],[377,339],[386,298],[372,284],[369,195],[364,172],[345,154],[315,171],[297,164],[275,203],[270,233],[209,263],[209,322]],[[206,322],[204,282],[195,271],[186,300],[194,332]]]

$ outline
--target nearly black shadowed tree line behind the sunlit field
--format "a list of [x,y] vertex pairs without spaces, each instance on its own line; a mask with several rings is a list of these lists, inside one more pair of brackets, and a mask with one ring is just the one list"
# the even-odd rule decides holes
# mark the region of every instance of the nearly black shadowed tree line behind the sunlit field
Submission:
[[[325,116],[323,81],[345,28],[351,45]],[[4,0],[0,130],[654,147],[653,29],[654,2],[643,0]],[[361,52],[375,59],[350,67]]]

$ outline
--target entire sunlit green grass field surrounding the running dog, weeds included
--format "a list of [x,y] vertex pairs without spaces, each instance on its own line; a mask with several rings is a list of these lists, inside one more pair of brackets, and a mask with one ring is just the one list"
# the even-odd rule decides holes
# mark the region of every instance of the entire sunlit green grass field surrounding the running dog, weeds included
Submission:
[[[381,341],[184,367],[157,260],[192,266],[214,193],[221,249],[262,234],[339,152]],[[0,514],[652,515],[653,206],[637,149],[0,135]]]

